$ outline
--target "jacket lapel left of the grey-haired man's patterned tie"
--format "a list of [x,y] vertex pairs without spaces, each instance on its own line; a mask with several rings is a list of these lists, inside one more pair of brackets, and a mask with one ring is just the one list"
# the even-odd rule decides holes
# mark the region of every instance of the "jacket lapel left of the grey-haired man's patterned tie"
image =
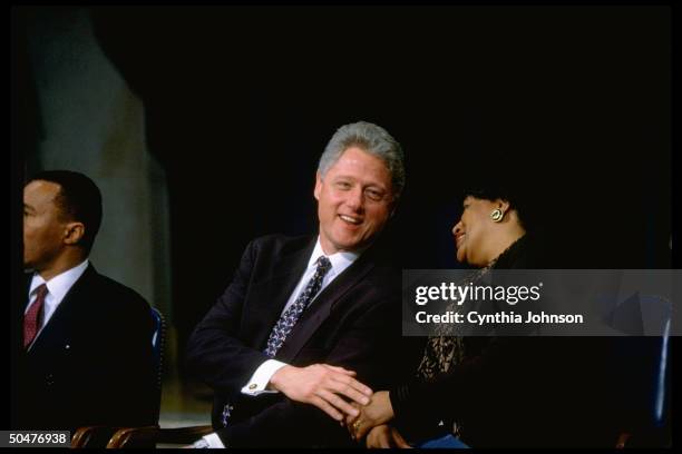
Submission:
[[254,336],[254,347],[265,347],[270,332],[282,315],[289,297],[308,267],[315,241],[316,238],[313,238],[302,249],[276,260],[272,267],[272,276],[261,280],[254,287],[253,300],[260,303],[256,309],[259,310],[256,316],[260,319],[256,323],[262,327]]

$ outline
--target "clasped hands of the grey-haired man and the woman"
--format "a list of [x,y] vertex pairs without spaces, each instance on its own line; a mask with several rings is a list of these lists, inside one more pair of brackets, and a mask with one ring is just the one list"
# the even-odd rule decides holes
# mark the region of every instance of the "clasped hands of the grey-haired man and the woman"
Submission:
[[372,393],[354,377],[355,372],[328,364],[286,365],[273,374],[269,387],[322,409],[345,425],[355,441],[368,435],[368,447],[410,447],[393,427],[386,425],[393,417],[388,392]]

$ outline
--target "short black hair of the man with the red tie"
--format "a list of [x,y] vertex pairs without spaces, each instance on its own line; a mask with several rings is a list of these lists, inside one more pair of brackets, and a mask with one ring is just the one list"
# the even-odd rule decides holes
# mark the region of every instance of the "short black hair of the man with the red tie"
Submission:
[[95,181],[87,176],[71,170],[46,170],[27,181],[50,181],[59,185],[60,190],[55,199],[65,216],[85,225],[80,241],[89,253],[101,225],[101,193]]

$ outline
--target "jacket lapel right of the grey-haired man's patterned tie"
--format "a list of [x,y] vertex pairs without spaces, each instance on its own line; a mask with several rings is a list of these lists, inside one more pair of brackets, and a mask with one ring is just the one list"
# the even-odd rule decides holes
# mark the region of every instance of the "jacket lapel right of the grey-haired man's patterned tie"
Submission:
[[318,330],[320,325],[329,317],[334,304],[374,267],[368,250],[354,264],[328,285],[310,306],[303,312],[294,329],[289,334],[286,340],[277,353],[281,361],[292,361],[303,348],[308,339]]

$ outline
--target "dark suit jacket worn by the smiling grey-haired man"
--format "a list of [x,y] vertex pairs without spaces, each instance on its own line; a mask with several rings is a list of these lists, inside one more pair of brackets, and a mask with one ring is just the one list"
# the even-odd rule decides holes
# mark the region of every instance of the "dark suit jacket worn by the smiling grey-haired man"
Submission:
[[[267,337],[301,279],[315,238],[267,236],[252,241],[234,280],[193,333],[187,365],[215,389],[213,424],[227,447],[353,445],[318,407],[283,394],[246,396],[241,388],[265,362]],[[373,389],[413,367],[400,352],[400,272],[379,247],[364,251],[302,314],[275,359],[295,366],[327,363],[358,373]],[[403,361],[397,361],[400,354]],[[409,367],[405,368],[409,369]],[[233,406],[227,427],[225,404]]]

